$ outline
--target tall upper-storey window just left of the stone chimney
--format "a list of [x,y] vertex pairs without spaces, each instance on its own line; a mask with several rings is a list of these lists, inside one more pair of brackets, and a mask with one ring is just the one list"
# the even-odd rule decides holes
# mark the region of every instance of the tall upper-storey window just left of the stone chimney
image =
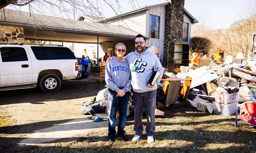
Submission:
[[151,38],[159,39],[159,21],[160,17],[155,15],[150,15],[149,20],[149,36]]

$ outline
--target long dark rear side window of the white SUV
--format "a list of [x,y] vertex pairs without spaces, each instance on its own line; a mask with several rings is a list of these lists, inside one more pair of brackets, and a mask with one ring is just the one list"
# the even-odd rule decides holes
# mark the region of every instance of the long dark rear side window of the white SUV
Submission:
[[67,47],[31,46],[37,60],[73,60],[73,52]]

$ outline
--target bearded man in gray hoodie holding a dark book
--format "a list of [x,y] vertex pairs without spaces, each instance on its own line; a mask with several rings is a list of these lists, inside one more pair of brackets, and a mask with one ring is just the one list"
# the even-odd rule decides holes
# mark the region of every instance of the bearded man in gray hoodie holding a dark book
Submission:
[[[148,143],[154,142],[155,133],[155,110],[156,110],[156,86],[163,75],[163,67],[154,53],[146,47],[146,39],[141,34],[135,37],[135,52],[129,53],[124,58],[128,61],[131,69],[134,100],[134,130],[136,131],[132,141],[139,141],[143,133],[142,113],[143,107],[147,114],[146,133]],[[155,84],[151,86],[148,82],[153,72],[161,75]]]

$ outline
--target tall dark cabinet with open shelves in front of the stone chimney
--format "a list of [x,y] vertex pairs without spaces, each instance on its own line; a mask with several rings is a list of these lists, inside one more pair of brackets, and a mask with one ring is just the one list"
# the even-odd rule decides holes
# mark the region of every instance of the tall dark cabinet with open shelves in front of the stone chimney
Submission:
[[[189,64],[189,43],[175,42],[168,43],[168,72],[175,72],[175,68],[188,66]],[[178,72],[176,72],[178,73]]]

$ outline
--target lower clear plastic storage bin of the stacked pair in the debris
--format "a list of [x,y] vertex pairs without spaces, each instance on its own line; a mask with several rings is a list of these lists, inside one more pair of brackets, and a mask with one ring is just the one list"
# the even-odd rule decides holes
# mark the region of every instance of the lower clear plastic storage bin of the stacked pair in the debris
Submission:
[[227,116],[236,112],[238,101],[230,104],[223,104],[213,101],[212,104],[214,106],[214,113]]

